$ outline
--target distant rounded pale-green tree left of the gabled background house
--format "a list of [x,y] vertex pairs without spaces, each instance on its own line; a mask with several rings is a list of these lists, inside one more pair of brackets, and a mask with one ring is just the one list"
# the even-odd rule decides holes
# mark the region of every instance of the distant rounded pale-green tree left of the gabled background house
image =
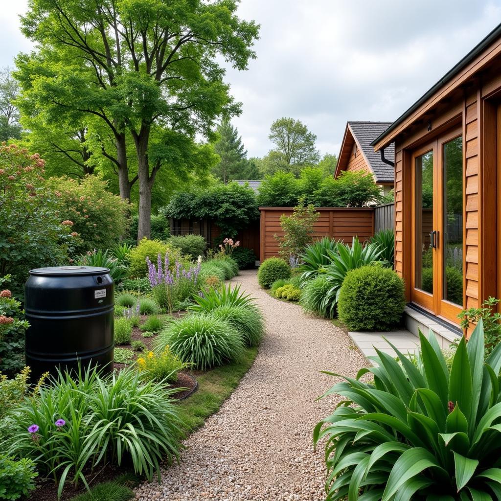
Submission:
[[294,172],[297,170],[294,167],[314,165],[320,159],[315,146],[316,134],[309,132],[308,127],[299,120],[285,117],[275,120],[268,137],[275,143],[275,149],[268,154],[269,161],[277,170]]

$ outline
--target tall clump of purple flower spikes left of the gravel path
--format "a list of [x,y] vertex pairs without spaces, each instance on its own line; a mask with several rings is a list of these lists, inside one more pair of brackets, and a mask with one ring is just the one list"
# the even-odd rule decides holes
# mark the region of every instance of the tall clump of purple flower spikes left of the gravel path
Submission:
[[189,268],[178,261],[172,269],[169,268],[168,254],[165,254],[163,264],[161,255],[157,256],[156,267],[149,258],[146,258],[146,262],[153,297],[157,304],[166,308],[169,313],[172,313],[176,302],[184,301],[200,290],[201,258],[196,265],[191,265]]

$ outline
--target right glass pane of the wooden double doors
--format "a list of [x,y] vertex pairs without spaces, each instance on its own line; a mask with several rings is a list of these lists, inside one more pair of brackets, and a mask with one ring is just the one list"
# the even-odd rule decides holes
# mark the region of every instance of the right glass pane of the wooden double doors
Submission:
[[442,299],[463,304],[463,142],[443,145]]

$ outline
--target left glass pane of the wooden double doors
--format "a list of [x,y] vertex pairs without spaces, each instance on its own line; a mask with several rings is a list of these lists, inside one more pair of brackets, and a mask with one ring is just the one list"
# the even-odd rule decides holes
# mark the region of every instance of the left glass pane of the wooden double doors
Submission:
[[433,151],[415,158],[414,287],[433,294]]

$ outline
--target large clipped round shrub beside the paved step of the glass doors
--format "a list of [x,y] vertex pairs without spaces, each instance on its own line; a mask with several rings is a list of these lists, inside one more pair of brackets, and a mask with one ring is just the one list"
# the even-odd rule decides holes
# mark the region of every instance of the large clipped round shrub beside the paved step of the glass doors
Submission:
[[399,324],[404,307],[403,280],[380,266],[348,272],[339,293],[339,318],[354,331],[391,329]]

